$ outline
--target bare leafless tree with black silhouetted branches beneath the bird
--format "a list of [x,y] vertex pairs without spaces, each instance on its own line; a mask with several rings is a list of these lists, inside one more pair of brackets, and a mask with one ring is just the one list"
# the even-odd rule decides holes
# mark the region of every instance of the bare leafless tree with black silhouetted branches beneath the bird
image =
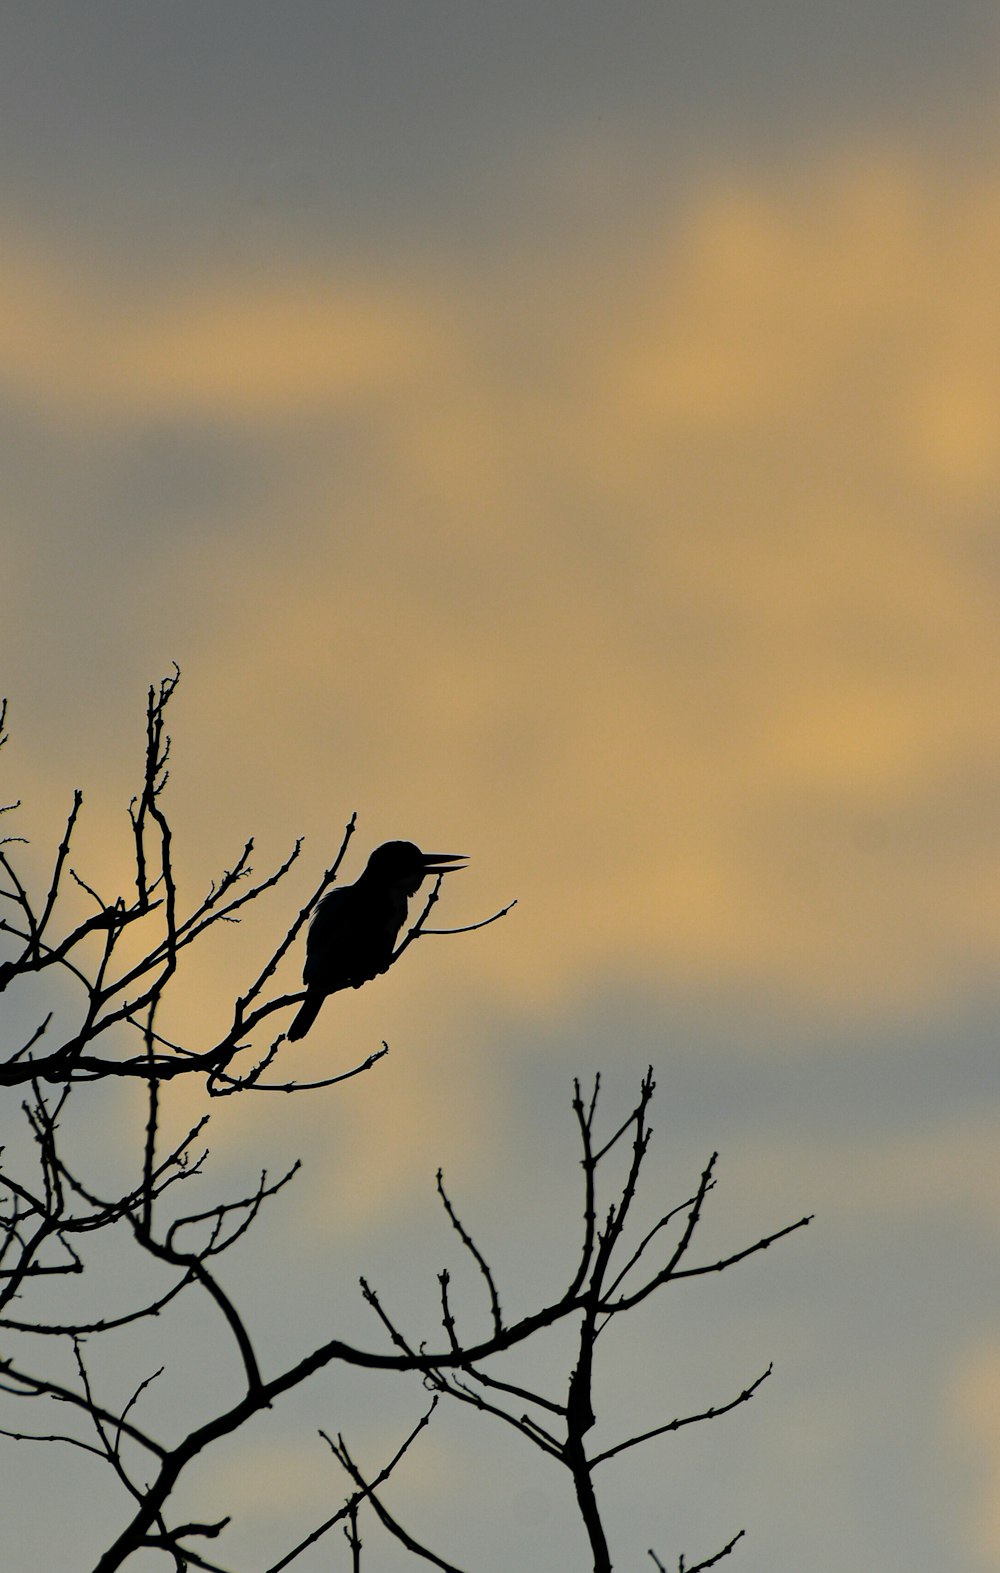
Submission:
[[[0,1087],[8,1098],[20,1100],[27,1137],[13,1150],[13,1158],[5,1155],[0,1167],[0,1332],[6,1345],[0,1357],[2,1446],[27,1446],[33,1441],[52,1450],[83,1449],[104,1466],[108,1490],[116,1491],[121,1504],[119,1529],[94,1564],[94,1573],[126,1568],[138,1554],[151,1551],[162,1554],[164,1567],[223,1573],[222,1564],[214,1560],[215,1543],[222,1556],[223,1531],[230,1520],[219,1516],[211,1523],[182,1523],[173,1509],[175,1493],[186,1471],[214,1444],[237,1435],[263,1409],[280,1403],[283,1395],[303,1387],[316,1373],[330,1367],[355,1367],[369,1373],[418,1373],[429,1391],[429,1405],[415,1417],[409,1435],[377,1472],[362,1469],[343,1435],[321,1433],[343,1468],[346,1494],[321,1524],[311,1526],[272,1562],[267,1573],[296,1565],[308,1548],[338,1526],[346,1545],[336,1551],[335,1545],[325,1542],[330,1560],[322,1565],[362,1568],[358,1526],[363,1516],[395,1537],[415,1560],[453,1570],[454,1564],[439,1549],[420,1543],[399,1523],[387,1505],[392,1490],[385,1490],[396,1471],[406,1468],[407,1455],[418,1446],[442,1403],[472,1406],[484,1420],[508,1427],[525,1446],[563,1466],[593,1567],[596,1573],[610,1570],[612,1551],[596,1490],[602,1466],[665,1431],[714,1419],[747,1403],[769,1376],[770,1367],[739,1394],[715,1406],[640,1427],[613,1446],[596,1450],[590,1439],[596,1419],[594,1365],[602,1334],[671,1284],[726,1271],[803,1227],[808,1218],[777,1229],[728,1257],[693,1263],[692,1244],[714,1188],[712,1156],[692,1194],[637,1236],[634,1200],[649,1147],[653,1071],[643,1078],[626,1117],[610,1131],[604,1129],[599,1118],[599,1079],[586,1092],[577,1082],[572,1114],[580,1144],[582,1227],[575,1262],[561,1293],[531,1312],[508,1320],[497,1276],[462,1224],[439,1172],[442,1206],[483,1284],[484,1320],[475,1328],[459,1329],[453,1276],[442,1269],[437,1274],[437,1329],[415,1335],[398,1324],[381,1295],[362,1279],[362,1293],[379,1334],[376,1346],[330,1337],[305,1351],[289,1350],[281,1362],[261,1369],[252,1312],[241,1309],[236,1298],[223,1288],[217,1263],[253,1229],[261,1208],[281,1205],[286,1188],[297,1178],[299,1164],[277,1178],[261,1173],[258,1183],[234,1200],[214,1200],[209,1206],[193,1210],[187,1205],[190,1183],[198,1177],[200,1184],[204,1184],[209,1175],[209,1153],[201,1145],[209,1117],[204,1114],[179,1140],[165,1140],[164,1100],[178,1082],[192,1079],[203,1085],[209,1100],[277,1092],[330,1096],[330,1089],[338,1087],[343,1093],[346,1089],[341,1084],[371,1073],[387,1048],[382,1044],[363,1062],[336,1076],[299,1082],[275,1076],[283,1032],[274,1037],[264,1052],[256,1051],[252,1040],[255,1029],[264,1024],[274,1027],[274,1018],[281,1019],[303,997],[302,991],[269,991],[280,963],[338,876],[354,834],[354,816],[314,893],[296,914],[291,926],[280,931],[266,963],[237,994],[231,1022],[219,1041],[190,1046],[168,1041],[157,1030],[157,1011],[165,994],[184,988],[184,966],[192,947],[215,925],[230,923],[252,903],[269,900],[302,851],[302,843],[296,843],[278,868],[255,881],[250,865],[253,843],[248,842],[233,868],[209,884],[204,898],[192,911],[181,909],[165,810],[170,758],[165,711],[178,678],[175,669],[148,695],[143,783],[129,805],[134,892],[108,900],[71,868],[69,853],[82,809],[79,791],[41,893],[35,893],[31,881],[17,870],[19,838],[8,837],[0,843],[0,898],[6,908],[0,933],[8,952],[0,961],[0,993],[5,993],[9,1004],[19,989],[42,977],[52,980],[50,991],[53,996],[58,993],[60,1000],[66,994],[63,985],[68,985],[71,996],[71,1007],[63,1002],[61,1011],[46,1011],[28,1029],[24,1041],[8,1041],[0,1063]],[[5,717],[6,706],[0,709],[0,747],[6,742]],[[3,812],[11,813],[16,807],[13,804]],[[440,878],[393,960],[421,936],[464,933],[486,926],[509,911],[505,908],[483,923],[458,930],[432,930],[428,919],[439,890]],[[64,919],[71,908],[68,893],[86,900],[86,915]],[[9,1015],[8,1010],[8,1019]],[[63,1016],[68,1018],[66,1024]],[[83,1167],[88,1158],[97,1155],[85,1153],[83,1161],[71,1156],[63,1133],[72,1100],[85,1089],[90,1089],[86,1096],[93,1096],[93,1089],[112,1092],[121,1087],[123,1079],[143,1089],[145,1133],[140,1150],[123,1155],[123,1161],[132,1164],[131,1183],[105,1194],[99,1180]],[[610,1172],[613,1159],[619,1161],[616,1177]],[[97,1313],[83,1309],[86,1301],[82,1293],[77,1295],[77,1287],[82,1290],[93,1282],[99,1247],[107,1243],[116,1249],[124,1243],[137,1247],[142,1260],[156,1265],[167,1287],[146,1295],[132,1290],[132,1298],[124,1304],[118,1302],[118,1291],[108,1291],[107,1302],[101,1304]],[[55,1315],[52,1310],[57,1287],[72,1290],[60,1296],[60,1304],[69,1304],[69,1315]],[[101,1288],[101,1280],[97,1287]],[[160,1372],[151,1369],[129,1402],[115,1405],[102,1394],[101,1381],[94,1376],[93,1350],[126,1334],[134,1337],[146,1331],[151,1334],[153,1367],[160,1346],[159,1328],[178,1312],[181,1302],[198,1302],[220,1321],[237,1354],[241,1381],[239,1391],[208,1420],[192,1420],[181,1427],[179,1435],[164,1441],[162,1422],[156,1414],[156,1378]],[[74,1307],[79,1307],[75,1313]],[[549,1391],[495,1375],[495,1356],[530,1346],[544,1329],[557,1324],[572,1329],[574,1357],[561,1378],[552,1375]],[[27,1420],[22,1419],[25,1413]],[[651,1532],[654,1529],[651,1526]],[[687,1573],[698,1573],[726,1556],[741,1535],[742,1531]],[[440,1538],[447,1540],[447,1531]],[[336,1560],[338,1556],[341,1560]],[[649,1557],[657,1568],[664,1568],[665,1564],[654,1551],[649,1551]],[[682,1557],[679,1567],[684,1570]]]

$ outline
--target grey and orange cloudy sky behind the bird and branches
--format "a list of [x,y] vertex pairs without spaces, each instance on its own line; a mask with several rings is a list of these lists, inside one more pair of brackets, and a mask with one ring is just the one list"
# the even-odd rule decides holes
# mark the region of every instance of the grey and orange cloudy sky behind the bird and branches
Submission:
[[[608,1126],[656,1068],[654,1189],[720,1151],[706,1255],[816,1214],[619,1353],[649,1424],[775,1362],[608,1474],[623,1567],[744,1524],[744,1573],[1000,1557],[998,68],[972,0],[0,16],[3,794],[38,867],[82,786],[86,867],[127,879],[176,661],[182,889],[305,835],[184,1030],[352,812],[346,878],[406,837],[470,857],[448,923],[517,898],[285,1051],[385,1038],[376,1071],[214,1112],[226,1183],[307,1159],[233,1268],[263,1350],[330,1302],[376,1342],[360,1273],[432,1335],[439,1164],[541,1293],[597,1068]],[[134,1117],[88,1107],[83,1150]],[[233,1565],[338,1499],[316,1427],[381,1461],[421,1400],[321,1384],[208,1460]],[[42,1573],[75,1553],[41,1457],[6,1468]],[[66,1468],[99,1548],[116,1505]],[[476,1573],[585,1565],[564,1483],[464,1416],[396,1501]]]

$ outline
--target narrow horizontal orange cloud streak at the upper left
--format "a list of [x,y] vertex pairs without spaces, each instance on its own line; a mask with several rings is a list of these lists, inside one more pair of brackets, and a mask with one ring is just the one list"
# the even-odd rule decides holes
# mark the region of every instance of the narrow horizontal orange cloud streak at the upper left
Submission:
[[0,385],[86,426],[184,418],[261,426],[410,384],[429,326],[392,282],[223,277],[154,300],[33,247],[0,269]]

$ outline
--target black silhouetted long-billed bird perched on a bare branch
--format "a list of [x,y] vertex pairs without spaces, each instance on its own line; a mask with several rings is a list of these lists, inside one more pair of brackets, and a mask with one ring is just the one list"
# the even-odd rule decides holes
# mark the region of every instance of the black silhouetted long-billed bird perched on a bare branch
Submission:
[[421,853],[414,842],[384,842],[352,886],[322,898],[305,942],[305,1000],[288,1029],[292,1043],[307,1035],[327,994],[360,988],[388,969],[407,900],[428,875],[454,873],[464,862],[464,853]]

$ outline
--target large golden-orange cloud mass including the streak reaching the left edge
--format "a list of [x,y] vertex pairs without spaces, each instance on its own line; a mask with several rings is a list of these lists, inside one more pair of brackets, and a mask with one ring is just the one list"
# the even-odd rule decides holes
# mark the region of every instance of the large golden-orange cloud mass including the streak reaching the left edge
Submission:
[[522,898],[472,989],[912,1010],[1000,938],[998,242],[989,178],[876,149],[516,277],[42,271],[8,378],[283,433],[283,495],[124,613],[181,634],[206,845],[234,782],[461,843],[472,915]]

